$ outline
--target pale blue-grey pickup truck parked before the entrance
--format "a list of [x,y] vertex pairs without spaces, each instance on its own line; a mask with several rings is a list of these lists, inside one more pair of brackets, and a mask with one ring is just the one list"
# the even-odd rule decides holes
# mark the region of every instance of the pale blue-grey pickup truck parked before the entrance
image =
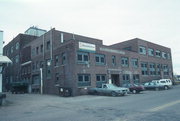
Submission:
[[90,88],[88,90],[89,94],[104,94],[104,95],[111,95],[111,96],[124,96],[129,91],[128,88],[124,87],[117,87],[113,84],[102,84],[101,88]]

